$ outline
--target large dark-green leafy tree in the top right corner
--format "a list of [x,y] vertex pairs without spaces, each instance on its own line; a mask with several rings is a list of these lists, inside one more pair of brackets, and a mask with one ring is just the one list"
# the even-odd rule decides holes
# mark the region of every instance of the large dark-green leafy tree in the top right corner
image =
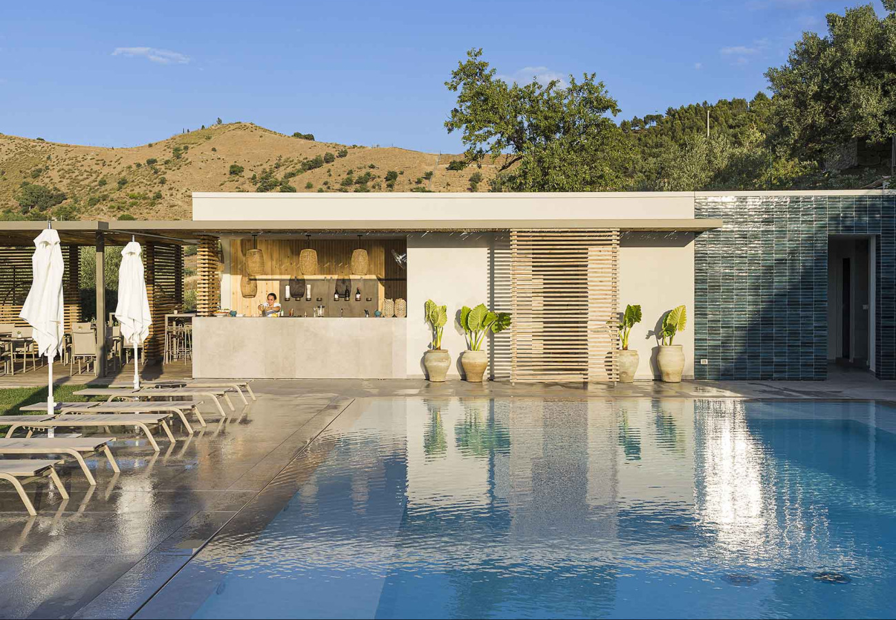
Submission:
[[851,138],[896,134],[896,0],[827,15],[828,33],[806,32],[786,65],[765,76],[774,93],[773,140],[800,159],[822,162]]

